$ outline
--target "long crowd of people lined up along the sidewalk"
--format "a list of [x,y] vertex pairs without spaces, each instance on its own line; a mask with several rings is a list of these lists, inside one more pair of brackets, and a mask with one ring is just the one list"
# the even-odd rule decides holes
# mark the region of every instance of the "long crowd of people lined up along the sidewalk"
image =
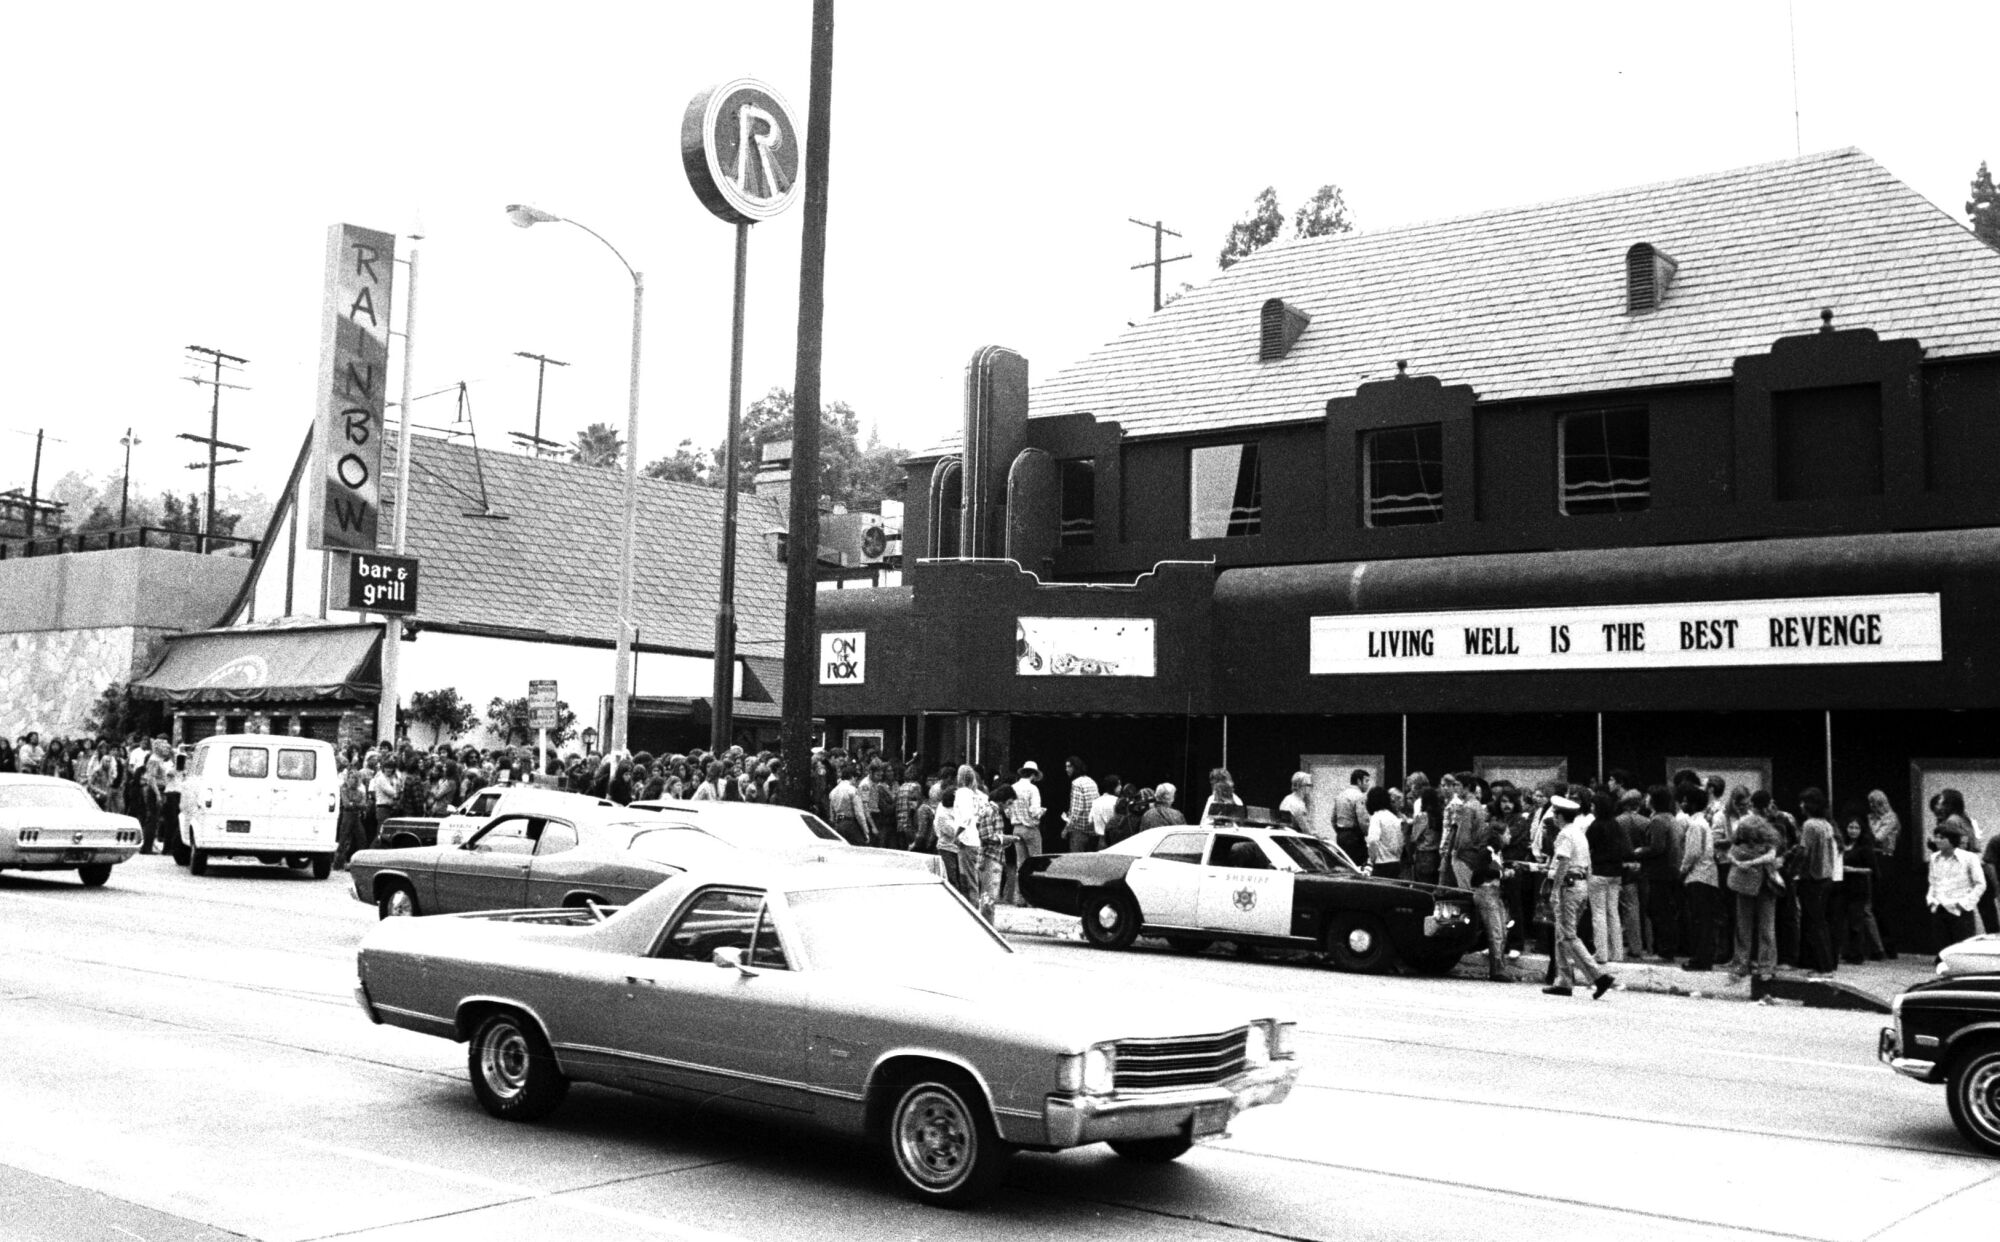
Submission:
[[[0,772],[40,772],[84,786],[98,806],[142,824],[140,852],[178,840],[188,748],[166,738],[0,738]],[[342,830],[336,866],[394,816],[444,816],[494,784],[536,782],[630,804],[642,798],[774,802],[784,776],[770,750],[548,754],[524,746],[434,746],[408,740],[340,752]],[[1102,850],[1146,828],[1184,824],[1178,790],[1116,774],[1094,778],[1064,760],[1064,808],[1044,808],[1034,760],[1012,770],[892,762],[876,752],[814,750],[812,810],[858,846],[938,854],[946,878],[986,918],[1018,904],[1020,864],[1038,852]],[[1314,826],[1312,776],[1296,772],[1276,820]],[[1488,974],[1512,980],[1524,948],[1550,954],[1548,990],[1602,996],[1608,966],[1654,958],[1770,980],[1780,966],[1834,972],[1894,956],[1876,918],[1886,860],[1904,828],[1882,790],[1832,814],[1818,788],[1786,810],[1768,790],[1676,772],[1640,788],[1612,770],[1592,784],[1518,788],[1472,772],[1436,784],[1410,772],[1376,786],[1354,770],[1330,800],[1324,832],[1358,868],[1466,890],[1486,928]],[[1226,768],[1210,772],[1200,822],[1244,816]],[[1958,790],[1932,798],[1924,896],[1930,940],[2000,930],[2000,826],[1982,834]]]

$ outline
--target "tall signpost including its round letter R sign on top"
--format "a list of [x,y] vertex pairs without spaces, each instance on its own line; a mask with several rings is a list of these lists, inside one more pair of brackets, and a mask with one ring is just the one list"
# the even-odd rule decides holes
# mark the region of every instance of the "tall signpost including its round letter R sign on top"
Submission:
[[[736,438],[744,398],[744,274],[750,226],[770,220],[798,196],[798,122],[770,86],[736,78],[694,96],[680,120],[680,164],[694,196],[736,226],[736,318],[730,334],[730,432],[722,450],[722,600],[716,606],[716,680],[710,692],[708,748],[722,752],[734,734],[736,702]],[[804,418],[818,408],[800,406]],[[794,418],[794,422],[798,422]],[[792,488],[816,488],[794,478]],[[810,558],[808,558],[810,560]]]

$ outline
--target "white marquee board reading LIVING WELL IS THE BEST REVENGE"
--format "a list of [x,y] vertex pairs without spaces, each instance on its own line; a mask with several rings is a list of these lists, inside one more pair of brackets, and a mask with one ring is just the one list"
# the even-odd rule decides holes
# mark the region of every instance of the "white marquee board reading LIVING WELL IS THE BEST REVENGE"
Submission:
[[1938,596],[1312,618],[1308,672],[1914,664],[1944,658]]

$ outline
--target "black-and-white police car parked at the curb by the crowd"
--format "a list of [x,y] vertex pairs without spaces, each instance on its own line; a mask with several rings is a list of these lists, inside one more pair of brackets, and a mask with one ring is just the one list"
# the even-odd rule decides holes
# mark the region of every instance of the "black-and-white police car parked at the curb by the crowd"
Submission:
[[1284,828],[1148,828],[1096,854],[1040,854],[1020,868],[1030,904],[1076,914],[1098,948],[1164,936],[1178,952],[1324,950],[1342,970],[1396,962],[1446,974],[1480,938],[1470,894],[1362,874],[1338,846]]

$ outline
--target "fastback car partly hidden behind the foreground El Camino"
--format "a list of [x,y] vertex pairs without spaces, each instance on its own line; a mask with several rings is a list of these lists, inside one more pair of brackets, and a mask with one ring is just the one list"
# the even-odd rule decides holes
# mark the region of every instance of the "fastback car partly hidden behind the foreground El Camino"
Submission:
[[382,918],[522,906],[622,906],[692,860],[730,852],[652,816],[610,808],[492,818],[456,846],[360,850],[348,860],[354,898]]

